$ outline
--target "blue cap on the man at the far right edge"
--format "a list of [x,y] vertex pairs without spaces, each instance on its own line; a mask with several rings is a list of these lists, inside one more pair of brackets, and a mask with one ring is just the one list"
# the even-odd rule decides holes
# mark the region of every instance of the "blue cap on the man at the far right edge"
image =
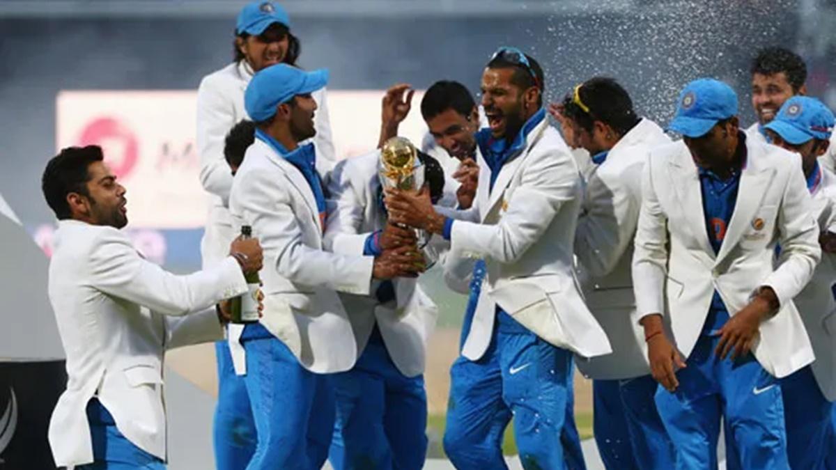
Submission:
[[808,96],[793,96],[784,101],[775,119],[764,127],[781,135],[793,146],[799,146],[810,139],[829,140],[833,121],[833,111],[821,101]]

